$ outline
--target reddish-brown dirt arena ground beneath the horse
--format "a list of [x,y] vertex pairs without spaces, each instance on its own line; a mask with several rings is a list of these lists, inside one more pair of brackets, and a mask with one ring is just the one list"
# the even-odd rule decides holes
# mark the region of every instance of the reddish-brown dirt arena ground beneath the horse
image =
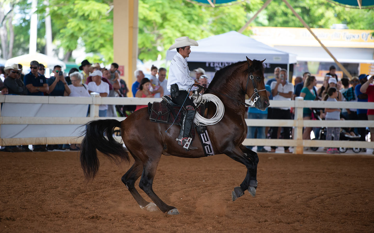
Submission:
[[[154,191],[180,215],[141,210],[101,157],[86,184],[76,152],[0,152],[0,232],[374,232],[374,157],[260,154],[255,198],[235,202],[243,165],[164,156]],[[145,199],[150,199],[140,192]]]

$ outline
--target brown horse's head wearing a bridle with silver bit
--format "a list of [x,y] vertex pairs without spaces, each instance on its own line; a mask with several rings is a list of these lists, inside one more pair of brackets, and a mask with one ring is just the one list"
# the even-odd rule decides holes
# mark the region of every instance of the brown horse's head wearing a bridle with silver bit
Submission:
[[[246,75],[243,81],[243,90],[249,96],[252,97],[252,101],[257,97],[255,91],[258,91],[259,98],[255,102],[255,107],[260,110],[265,110],[269,106],[269,97],[265,90],[264,82],[264,66],[263,61],[251,60],[247,57],[247,63],[249,69],[246,70]],[[264,90],[264,91],[261,91]]]

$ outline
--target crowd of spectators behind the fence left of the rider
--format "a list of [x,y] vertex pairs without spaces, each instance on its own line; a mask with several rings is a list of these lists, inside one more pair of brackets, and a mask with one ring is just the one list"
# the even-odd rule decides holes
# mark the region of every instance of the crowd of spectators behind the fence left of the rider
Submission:
[[[101,97],[127,97],[129,89],[120,78],[119,65],[112,63],[110,69],[99,63],[91,64],[83,60],[79,69],[72,68],[64,76],[61,66],[54,66],[50,78],[45,77],[44,64],[30,62],[30,73],[22,74],[21,64],[0,67],[0,91],[3,95],[50,95],[70,97],[90,97],[91,92],[98,92]],[[81,71],[81,72],[79,72]],[[150,79],[144,78],[142,70],[135,71],[137,81],[132,85],[132,93],[137,97],[162,97],[170,95],[166,88],[166,69],[152,66]],[[100,117],[128,116],[136,106],[99,105]],[[146,107],[146,106],[141,106]],[[138,106],[137,109],[139,109]],[[33,145],[33,151],[52,151],[67,149],[78,150],[78,144]],[[6,146],[6,152],[31,151],[28,145]]]

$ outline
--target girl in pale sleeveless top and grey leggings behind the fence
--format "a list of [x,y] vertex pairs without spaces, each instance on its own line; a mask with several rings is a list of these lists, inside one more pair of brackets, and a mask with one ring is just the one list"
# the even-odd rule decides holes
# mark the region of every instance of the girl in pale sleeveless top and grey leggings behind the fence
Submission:
[[[327,90],[327,94],[324,96],[325,101],[337,102],[338,90],[335,87],[330,87]],[[340,120],[340,108],[325,108],[326,120]],[[334,141],[339,141],[340,137],[340,127],[327,127],[326,140],[330,141],[334,134]],[[337,148],[328,148],[328,154],[339,154]]]

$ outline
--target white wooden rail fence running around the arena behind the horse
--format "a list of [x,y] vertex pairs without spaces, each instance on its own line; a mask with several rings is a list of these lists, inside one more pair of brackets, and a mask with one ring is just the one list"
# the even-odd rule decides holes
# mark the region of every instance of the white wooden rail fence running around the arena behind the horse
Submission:
[[[42,103],[42,104],[90,104],[90,117],[2,117],[0,114],[0,125],[5,124],[37,124],[37,125],[68,125],[85,124],[95,119],[117,119],[124,120],[125,117],[99,117],[100,104],[115,105],[145,105],[148,102],[161,101],[161,98],[118,98],[99,97],[53,97],[53,96],[22,96],[22,95],[0,95],[0,103]],[[294,139],[245,139],[243,145],[272,145],[294,147],[295,154],[302,154],[303,147],[358,147],[374,148],[374,142],[362,141],[321,141],[303,140],[303,127],[374,127],[374,121],[360,120],[303,120],[303,108],[364,108],[374,109],[374,103],[362,102],[328,102],[328,101],[304,101],[297,97],[294,101],[270,101],[270,107],[293,107],[295,108],[294,120],[276,119],[246,119],[248,126],[288,126],[294,127]],[[1,128],[0,128],[1,130]],[[120,140],[120,137],[116,137]],[[45,144],[74,144],[79,143],[82,138],[76,137],[39,137],[39,138],[0,138],[0,145],[45,145]]]

